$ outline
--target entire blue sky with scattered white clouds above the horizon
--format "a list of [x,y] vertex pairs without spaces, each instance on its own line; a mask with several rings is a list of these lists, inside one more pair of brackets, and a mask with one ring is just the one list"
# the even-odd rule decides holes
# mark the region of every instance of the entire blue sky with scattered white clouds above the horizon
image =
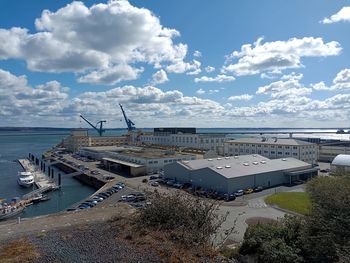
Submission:
[[350,127],[350,1],[0,1],[0,126]]

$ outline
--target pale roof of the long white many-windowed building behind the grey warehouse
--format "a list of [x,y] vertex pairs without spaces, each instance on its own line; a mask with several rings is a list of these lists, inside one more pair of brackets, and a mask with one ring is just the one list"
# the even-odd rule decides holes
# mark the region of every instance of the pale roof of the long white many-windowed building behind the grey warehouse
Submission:
[[297,146],[297,145],[315,145],[311,142],[291,139],[291,138],[240,138],[235,140],[228,140],[226,143],[254,143],[254,144],[266,144],[266,145],[287,145],[287,146]]

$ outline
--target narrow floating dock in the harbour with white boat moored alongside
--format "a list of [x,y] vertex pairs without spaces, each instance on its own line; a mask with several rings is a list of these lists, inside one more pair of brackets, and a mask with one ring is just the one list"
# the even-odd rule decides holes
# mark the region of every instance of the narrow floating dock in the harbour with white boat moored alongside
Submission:
[[26,172],[31,172],[34,175],[34,184],[38,189],[23,196],[23,199],[30,200],[35,195],[56,190],[59,187],[56,185],[54,180],[49,178],[45,173],[37,169],[35,164],[31,163],[28,159],[19,159],[19,164],[23,167]]

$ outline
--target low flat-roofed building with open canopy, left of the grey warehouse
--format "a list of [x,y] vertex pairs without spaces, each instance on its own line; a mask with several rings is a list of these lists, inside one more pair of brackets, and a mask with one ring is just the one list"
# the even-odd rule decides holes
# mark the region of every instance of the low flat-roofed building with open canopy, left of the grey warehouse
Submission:
[[101,160],[106,169],[126,176],[157,173],[169,163],[196,159],[192,154],[136,146],[84,147],[79,154]]

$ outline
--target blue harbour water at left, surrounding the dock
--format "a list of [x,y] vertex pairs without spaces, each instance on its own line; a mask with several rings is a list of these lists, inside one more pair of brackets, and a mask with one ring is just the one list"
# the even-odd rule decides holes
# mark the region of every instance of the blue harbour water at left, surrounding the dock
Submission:
[[[28,153],[37,157],[50,149],[66,135],[66,132],[1,132],[0,134],[0,198],[21,197],[32,189],[17,184],[17,173],[22,167],[14,160],[26,158]],[[62,172],[61,172],[62,173]],[[55,173],[57,175],[57,171]],[[74,178],[62,175],[62,189],[49,193],[51,199],[27,207],[23,217],[32,217],[62,211],[94,192],[93,188],[82,185]]]

